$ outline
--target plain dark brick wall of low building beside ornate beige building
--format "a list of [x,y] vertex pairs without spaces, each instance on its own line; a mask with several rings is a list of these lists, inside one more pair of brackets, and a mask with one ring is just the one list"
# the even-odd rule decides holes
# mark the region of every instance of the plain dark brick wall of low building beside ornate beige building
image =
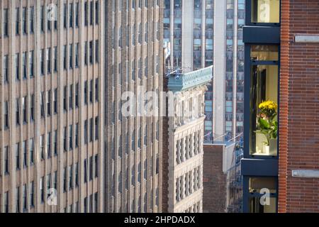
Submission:
[[223,145],[204,145],[203,150],[203,212],[224,213],[226,175],[223,174]]

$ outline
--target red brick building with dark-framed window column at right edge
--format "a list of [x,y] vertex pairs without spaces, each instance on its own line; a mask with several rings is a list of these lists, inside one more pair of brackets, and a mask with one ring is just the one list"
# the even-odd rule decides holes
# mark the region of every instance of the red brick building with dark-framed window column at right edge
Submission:
[[[311,0],[246,1],[244,212],[319,211],[318,10]],[[264,114],[267,100],[277,115]],[[278,124],[269,138],[261,118]]]

